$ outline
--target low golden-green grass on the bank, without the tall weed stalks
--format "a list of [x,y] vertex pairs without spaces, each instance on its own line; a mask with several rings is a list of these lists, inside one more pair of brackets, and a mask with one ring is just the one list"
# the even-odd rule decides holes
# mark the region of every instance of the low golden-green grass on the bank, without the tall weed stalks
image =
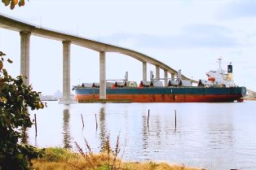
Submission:
[[186,168],[183,165],[170,165],[169,163],[154,162],[123,162],[109,155],[108,152],[100,154],[77,154],[62,148],[47,148],[41,159],[33,160],[36,170],[199,170],[199,168]]

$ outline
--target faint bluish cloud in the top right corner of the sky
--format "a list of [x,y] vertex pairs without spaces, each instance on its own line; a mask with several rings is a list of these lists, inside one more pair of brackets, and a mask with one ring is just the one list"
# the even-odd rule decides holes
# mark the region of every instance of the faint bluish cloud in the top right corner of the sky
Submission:
[[234,20],[256,16],[256,1],[236,0],[230,1],[218,11],[217,17],[222,20]]

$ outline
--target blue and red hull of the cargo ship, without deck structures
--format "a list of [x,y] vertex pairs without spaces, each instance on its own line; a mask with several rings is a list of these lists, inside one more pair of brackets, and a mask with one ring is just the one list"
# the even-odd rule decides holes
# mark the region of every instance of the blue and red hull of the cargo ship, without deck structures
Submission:
[[[77,88],[77,102],[99,101],[99,89]],[[242,102],[244,87],[232,88],[117,88],[106,89],[107,101],[113,102]]]

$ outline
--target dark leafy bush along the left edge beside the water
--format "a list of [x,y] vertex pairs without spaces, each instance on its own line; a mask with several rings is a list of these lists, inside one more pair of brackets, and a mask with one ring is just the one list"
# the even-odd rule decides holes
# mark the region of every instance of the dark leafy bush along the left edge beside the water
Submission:
[[[45,105],[40,101],[40,92],[31,85],[24,85],[24,76],[12,78],[3,68],[5,55],[0,51],[0,170],[24,170],[32,168],[31,159],[42,155],[35,147],[20,144],[21,129],[32,126],[31,110]],[[7,62],[12,63],[11,59]]]

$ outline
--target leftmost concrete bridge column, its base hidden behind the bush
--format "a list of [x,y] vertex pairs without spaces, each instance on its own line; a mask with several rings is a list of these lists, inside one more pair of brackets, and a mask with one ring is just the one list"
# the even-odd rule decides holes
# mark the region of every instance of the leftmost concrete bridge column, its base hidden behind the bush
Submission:
[[29,47],[30,47],[29,32],[20,32],[20,74],[26,76],[24,84],[29,85]]

